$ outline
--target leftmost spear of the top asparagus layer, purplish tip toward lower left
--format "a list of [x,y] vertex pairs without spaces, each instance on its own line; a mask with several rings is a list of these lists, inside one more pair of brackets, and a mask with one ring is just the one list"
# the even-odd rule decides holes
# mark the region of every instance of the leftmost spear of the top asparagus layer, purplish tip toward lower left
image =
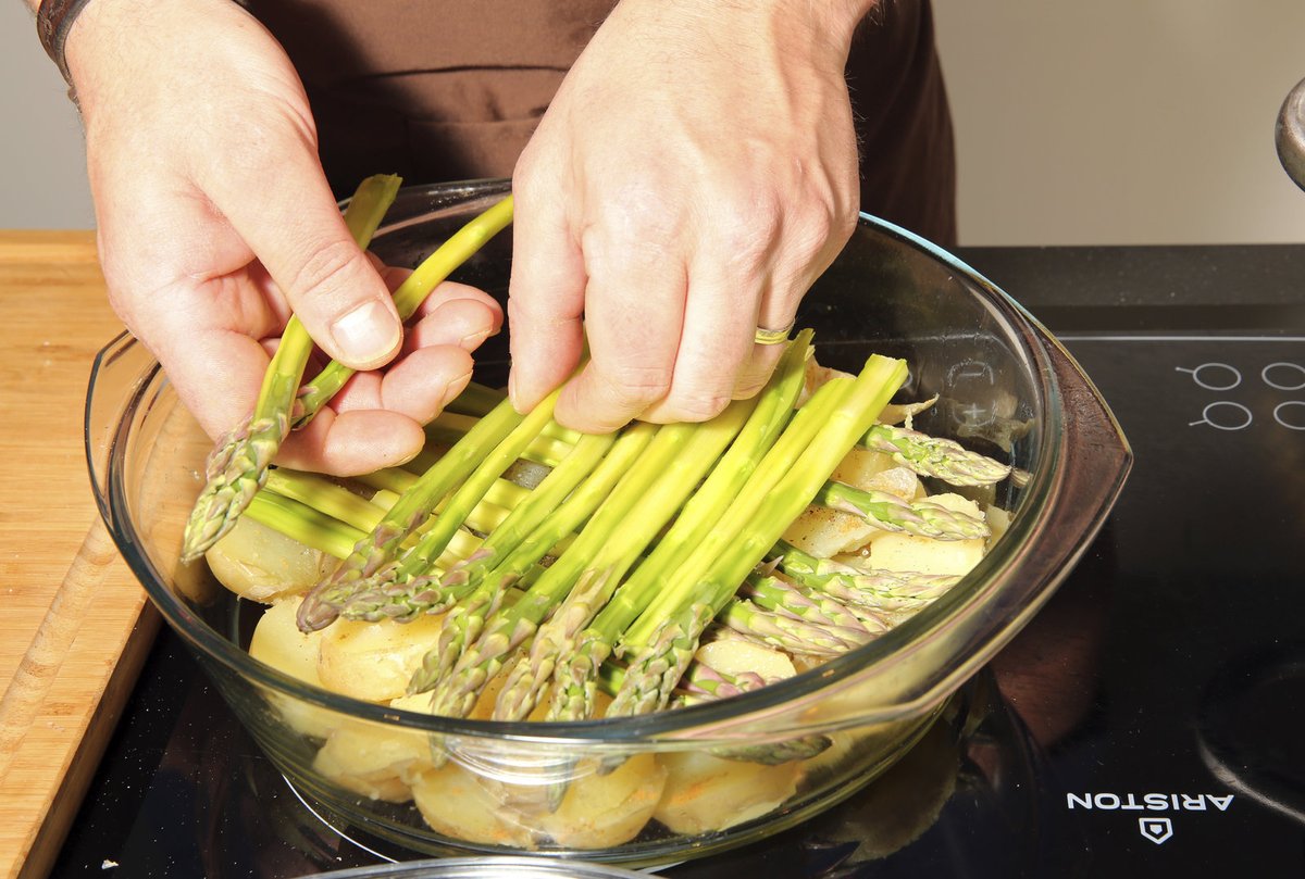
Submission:
[[[467,434],[453,446],[431,469],[401,497],[385,518],[360,540],[354,552],[304,596],[299,605],[299,627],[303,631],[317,631],[329,626],[338,617],[335,606],[355,584],[365,584],[368,578],[394,561],[403,543],[431,515],[436,505],[458,483],[467,479],[480,460],[488,455],[512,430],[521,424],[522,416],[504,400],[493,412],[483,417]],[[359,586],[359,588],[367,588]],[[330,592],[333,603],[322,601],[322,595]]]

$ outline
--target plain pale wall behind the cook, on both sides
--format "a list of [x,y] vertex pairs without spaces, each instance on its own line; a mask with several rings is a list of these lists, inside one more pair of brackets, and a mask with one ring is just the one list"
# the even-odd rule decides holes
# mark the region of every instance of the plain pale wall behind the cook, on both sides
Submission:
[[[891,0],[889,0],[891,1]],[[1305,241],[1274,120],[1302,0],[934,0],[964,244]],[[90,227],[76,112],[0,0],[0,228]]]

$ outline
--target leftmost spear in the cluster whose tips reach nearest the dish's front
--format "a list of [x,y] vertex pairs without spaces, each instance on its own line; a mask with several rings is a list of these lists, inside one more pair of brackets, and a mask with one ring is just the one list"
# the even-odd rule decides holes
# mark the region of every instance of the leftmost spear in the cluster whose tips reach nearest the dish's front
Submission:
[[488,571],[466,599],[449,610],[440,629],[440,642],[422,660],[408,683],[411,693],[435,687],[453,669],[467,644],[480,636],[485,618],[497,608],[499,596],[552,550],[557,543],[589,519],[612,493],[620,479],[639,460],[656,426],[637,424],[612,445],[594,472],[553,510],[538,528]]

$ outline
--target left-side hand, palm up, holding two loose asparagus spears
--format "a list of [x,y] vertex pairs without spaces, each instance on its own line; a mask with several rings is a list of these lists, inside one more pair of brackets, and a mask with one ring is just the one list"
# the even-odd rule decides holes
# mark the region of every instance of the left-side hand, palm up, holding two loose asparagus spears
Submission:
[[112,305],[205,430],[252,411],[292,309],[326,355],[377,372],[278,460],[359,473],[415,455],[422,423],[466,386],[502,316],[444,284],[405,340],[386,288],[398,273],[350,237],[277,42],[227,0],[98,0],[68,59]]

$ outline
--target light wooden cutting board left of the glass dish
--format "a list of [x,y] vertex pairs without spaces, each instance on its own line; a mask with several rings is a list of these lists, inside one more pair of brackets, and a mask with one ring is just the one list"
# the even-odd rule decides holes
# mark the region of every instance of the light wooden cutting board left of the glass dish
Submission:
[[95,352],[123,326],[91,232],[0,231],[0,879],[44,876],[158,616],[82,451]]

